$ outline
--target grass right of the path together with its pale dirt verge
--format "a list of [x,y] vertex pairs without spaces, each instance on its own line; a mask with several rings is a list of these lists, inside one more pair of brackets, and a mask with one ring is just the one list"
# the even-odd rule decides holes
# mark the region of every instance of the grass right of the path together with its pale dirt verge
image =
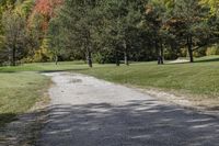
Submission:
[[[194,64],[142,63],[120,67],[92,68],[77,72],[111,82],[140,88],[147,93],[173,96],[166,98],[189,101],[191,105],[207,110],[219,110],[219,57],[199,58]],[[160,98],[161,99],[161,98]],[[187,103],[184,103],[187,104]]]

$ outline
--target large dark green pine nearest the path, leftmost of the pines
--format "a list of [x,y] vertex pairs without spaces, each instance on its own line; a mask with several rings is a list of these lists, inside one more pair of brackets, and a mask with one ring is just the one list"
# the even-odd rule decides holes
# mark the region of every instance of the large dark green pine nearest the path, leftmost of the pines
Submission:
[[[61,26],[59,35],[65,33],[62,35],[65,40],[58,42],[61,42],[61,46],[65,49],[83,54],[90,67],[92,67],[92,52],[95,44],[93,34],[96,4],[97,1],[95,0],[66,0],[57,14]],[[50,26],[53,27],[54,25],[51,24]]]

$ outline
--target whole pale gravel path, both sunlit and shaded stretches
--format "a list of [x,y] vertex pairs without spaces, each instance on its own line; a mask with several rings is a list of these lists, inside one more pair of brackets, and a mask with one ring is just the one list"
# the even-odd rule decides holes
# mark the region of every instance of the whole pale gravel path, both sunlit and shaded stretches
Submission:
[[38,146],[218,146],[219,120],[135,89],[68,72],[53,77]]

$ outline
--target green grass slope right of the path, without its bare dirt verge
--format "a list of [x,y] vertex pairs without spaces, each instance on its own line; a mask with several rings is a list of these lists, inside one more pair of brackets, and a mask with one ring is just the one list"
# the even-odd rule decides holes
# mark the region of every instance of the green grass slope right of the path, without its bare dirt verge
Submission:
[[216,98],[219,97],[219,61],[215,61],[218,59],[218,56],[214,56],[200,58],[195,64],[163,66],[158,66],[155,63],[143,63],[129,67],[94,68],[80,72],[118,83],[173,89],[184,93],[207,94]]

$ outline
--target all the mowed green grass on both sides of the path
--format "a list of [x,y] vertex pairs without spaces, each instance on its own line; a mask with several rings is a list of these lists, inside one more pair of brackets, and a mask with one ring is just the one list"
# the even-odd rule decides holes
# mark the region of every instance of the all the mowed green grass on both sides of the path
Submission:
[[[26,64],[0,67],[0,126],[27,112],[44,98],[50,80],[42,72],[72,71],[140,88],[155,88],[192,94],[196,100],[214,99],[219,103],[219,56],[196,59],[194,64],[135,63],[130,66],[94,65],[83,61]],[[215,103],[217,103],[215,102]]]

